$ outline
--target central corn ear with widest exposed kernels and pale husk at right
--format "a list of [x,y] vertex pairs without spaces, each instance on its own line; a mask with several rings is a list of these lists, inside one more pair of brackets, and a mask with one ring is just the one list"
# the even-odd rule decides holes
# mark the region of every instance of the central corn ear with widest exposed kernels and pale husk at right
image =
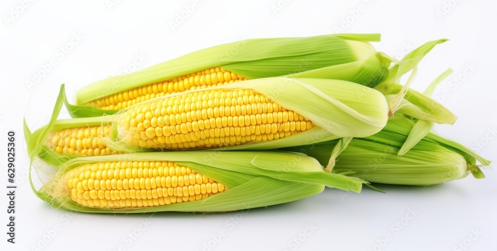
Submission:
[[[379,132],[385,126],[388,116],[384,96],[371,88],[368,88],[368,92],[364,93],[363,88],[364,86],[360,84],[340,80],[268,78],[216,86],[203,90],[182,92],[142,102],[113,115],[115,117],[112,123],[117,126],[118,138],[121,140],[115,141],[115,143],[112,143],[109,140],[106,140],[105,142],[115,150],[127,152],[140,152],[142,149],[150,148],[177,150],[216,147],[221,147],[223,150],[265,150],[284,146],[301,145],[302,143],[323,142],[341,137],[366,137]],[[267,124],[265,126],[266,128],[273,128],[275,131],[271,133],[276,133],[280,136],[276,137],[277,135],[275,135],[274,139],[262,138],[262,140],[260,140],[257,138],[257,127],[264,126],[265,122],[264,120],[262,120],[263,124],[256,122],[255,115],[252,115],[254,116],[252,120],[250,120],[250,115],[247,114],[242,113],[238,116],[238,111],[237,114],[230,114],[229,117],[227,117],[227,115],[223,117],[223,114],[221,113],[219,115],[220,117],[208,117],[208,114],[216,114],[215,110],[209,112],[209,109],[213,109],[211,106],[208,106],[209,103],[212,103],[214,106],[218,103],[220,107],[223,107],[225,99],[222,95],[225,93],[230,94],[232,92],[236,94],[240,91],[253,91],[255,93],[254,95],[261,96],[261,100],[269,99],[271,102],[274,102],[272,103],[272,107],[281,107],[278,109],[281,109],[282,112],[294,112],[297,114],[294,115],[295,117],[299,116],[303,119],[301,123],[305,122],[307,128],[302,129],[302,131],[297,131],[295,134],[284,131],[279,132],[278,130],[284,130],[284,123],[286,122],[279,121],[282,117],[279,116],[279,114],[276,116],[276,111],[271,113],[268,109],[267,123],[271,123],[269,120],[270,117],[275,117],[272,119],[274,122],[272,126],[274,128],[267,127]],[[221,95],[219,102],[217,101],[218,99],[210,98],[211,96],[215,97],[218,94]],[[208,99],[203,100],[198,98]],[[247,95],[244,95],[243,98],[247,98],[245,101],[250,102],[250,98]],[[235,97],[229,97],[228,101],[235,102],[238,100],[242,102],[243,98],[238,97],[237,99]],[[257,97],[255,97],[255,99],[257,99]],[[174,106],[172,106],[173,103]],[[178,106],[178,104],[181,105]],[[185,111],[182,113],[174,113],[176,108],[181,111],[183,104]],[[195,109],[200,109],[200,105],[202,113],[200,113],[200,110],[191,108],[196,107]],[[250,106],[250,103],[242,104],[243,107],[245,107],[244,105]],[[216,107],[217,106],[215,106],[214,109]],[[229,108],[229,106],[226,107]],[[234,113],[234,107],[235,104],[231,103],[232,113]],[[171,114],[168,114],[166,111],[169,110],[169,108]],[[193,119],[193,115],[191,116],[193,122],[189,122],[187,108],[192,109],[192,112],[197,112],[196,119],[199,122],[196,122],[196,120]],[[220,108],[220,110],[224,110],[224,108]],[[259,109],[257,109],[257,111],[258,110]],[[206,112],[204,113],[204,111]],[[203,114],[201,118],[200,114]],[[246,130],[246,136],[242,135],[240,136],[241,138],[235,139],[236,137],[234,136],[233,138],[230,138],[231,136],[223,137],[223,135],[221,135],[221,140],[226,139],[226,141],[224,141],[225,143],[213,144],[212,142],[208,142],[205,145],[192,145],[197,143],[200,144],[198,140],[200,139],[200,136],[202,136],[201,139],[204,140],[202,135],[204,132],[206,135],[205,137],[209,137],[209,134],[214,135],[214,133],[216,133],[217,137],[216,130],[219,130],[219,133],[223,133],[222,130],[231,127],[232,125],[228,122],[228,127],[225,127],[224,122],[221,123],[221,121],[224,119],[230,121],[232,115],[234,115],[233,120],[240,120],[241,123],[243,122],[242,118],[245,118],[247,121],[245,122],[246,124],[240,124],[240,127],[242,127],[244,131],[246,127],[248,128]],[[157,121],[164,120],[164,122],[159,121],[158,123],[155,123],[153,121],[155,118],[158,118]],[[148,121],[152,122],[149,123]],[[250,123],[249,121],[252,121],[253,124],[247,124]],[[142,122],[144,126],[141,125]],[[233,127],[237,126],[235,122],[233,122]],[[189,123],[191,123],[191,126]],[[206,127],[205,129],[200,128],[201,131],[196,131],[195,123],[205,124]],[[150,126],[148,124],[150,124]],[[209,126],[208,124],[210,124],[211,129],[207,127]],[[249,128],[249,126],[254,126],[253,130],[255,131],[251,132],[252,129]],[[160,131],[161,127],[163,129],[162,131]],[[154,133],[154,131],[157,131],[158,129],[159,134]],[[175,131],[177,134],[171,134],[170,131]],[[249,133],[252,134],[249,135]],[[179,136],[181,136],[181,138],[179,138]],[[188,138],[191,138],[191,142]],[[186,141],[178,142],[183,139],[186,139]],[[172,143],[168,143],[168,140]],[[212,140],[218,139],[214,138]],[[135,149],[133,150],[133,148]]]

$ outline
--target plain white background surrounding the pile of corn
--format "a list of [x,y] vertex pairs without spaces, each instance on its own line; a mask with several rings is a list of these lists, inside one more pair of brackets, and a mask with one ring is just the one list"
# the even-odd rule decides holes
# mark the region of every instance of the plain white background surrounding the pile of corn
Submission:
[[[496,250],[497,175],[491,169],[484,170],[487,178],[482,180],[468,176],[429,187],[379,185],[386,194],[369,189],[361,194],[326,189],[317,196],[244,214],[207,215],[72,215],[47,206],[22,178],[27,173],[22,118],[26,116],[31,129],[43,125],[62,83],[71,98],[85,84],[118,75],[124,68],[134,69],[137,55],[145,57],[136,66],[143,69],[221,43],[337,31],[382,33],[382,42],[375,47],[399,57],[426,41],[449,38],[421,62],[412,87],[423,90],[452,68],[454,74],[440,84],[434,96],[460,118],[455,125],[440,125],[436,130],[496,160],[497,137],[488,134],[497,126],[494,1],[200,0],[182,22],[176,19],[191,9],[185,7],[191,0],[122,0],[115,4],[110,0],[33,1],[20,7],[21,2],[5,0],[0,8],[0,153],[4,152],[0,159],[6,163],[7,131],[13,130],[19,186],[16,244],[12,245],[6,242],[7,177],[2,167],[1,250],[112,251],[119,246],[121,250],[199,251]],[[172,29],[171,22],[179,26]],[[73,39],[72,49],[62,58],[59,48],[71,43],[75,34],[82,38]],[[56,65],[30,88],[28,81],[52,59]],[[468,65],[474,69],[465,74]],[[453,78],[463,81],[456,83]],[[479,148],[476,142],[485,146]],[[418,211],[414,218],[403,219],[413,208]],[[139,230],[148,217],[149,226]],[[397,230],[396,222],[405,226]],[[307,226],[312,226],[312,231],[306,232]],[[54,228],[60,231],[49,237],[47,233]],[[219,240],[222,231],[226,235]],[[478,231],[478,236],[465,241],[472,231]],[[124,239],[129,233],[138,236]],[[386,234],[391,235],[386,246],[375,247],[384,244]],[[457,247],[460,243],[464,249]],[[205,248],[207,244],[211,248]]]

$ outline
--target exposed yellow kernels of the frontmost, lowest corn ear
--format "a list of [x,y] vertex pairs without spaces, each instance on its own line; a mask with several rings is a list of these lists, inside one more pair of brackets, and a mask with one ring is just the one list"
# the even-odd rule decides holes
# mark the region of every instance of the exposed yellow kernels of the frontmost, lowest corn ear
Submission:
[[162,206],[225,190],[223,184],[173,162],[91,163],[70,170],[64,180],[71,200],[97,208]]

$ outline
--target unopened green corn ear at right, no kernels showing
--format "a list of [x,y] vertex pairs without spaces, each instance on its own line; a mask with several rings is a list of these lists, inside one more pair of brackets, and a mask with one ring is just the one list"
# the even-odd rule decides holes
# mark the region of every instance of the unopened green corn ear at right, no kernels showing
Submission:
[[[465,177],[469,172],[477,178],[484,177],[476,161],[483,166],[490,165],[489,161],[433,133],[399,156],[413,127],[414,122],[408,118],[390,118],[379,133],[352,139],[338,155],[333,171],[351,171],[369,182],[402,185],[439,184]],[[326,165],[337,143],[334,140],[284,150],[305,153]]]

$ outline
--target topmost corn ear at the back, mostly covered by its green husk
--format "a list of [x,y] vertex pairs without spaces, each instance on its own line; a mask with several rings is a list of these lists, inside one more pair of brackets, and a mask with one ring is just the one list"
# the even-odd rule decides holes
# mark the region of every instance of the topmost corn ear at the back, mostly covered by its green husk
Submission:
[[77,92],[76,105],[67,106],[73,117],[99,116],[181,91],[299,73],[323,77],[323,71],[326,78],[374,87],[391,63],[367,43],[379,39],[379,34],[341,34],[219,45],[89,84]]

